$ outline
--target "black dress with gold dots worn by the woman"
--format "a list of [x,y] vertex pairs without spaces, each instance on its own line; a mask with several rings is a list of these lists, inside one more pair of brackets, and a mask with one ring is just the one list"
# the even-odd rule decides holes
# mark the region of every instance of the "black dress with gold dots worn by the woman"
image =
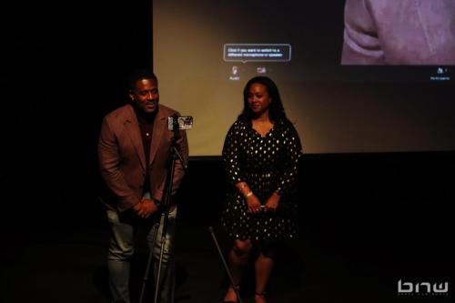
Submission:
[[[288,121],[278,121],[266,136],[251,122],[237,120],[227,132],[223,160],[227,199],[221,223],[227,235],[242,240],[278,240],[297,236],[297,173],[302,155],[298,133]],[[235,184],[248,187],[265,204],[274,191],[281,195],[276,212],[248,213]]]

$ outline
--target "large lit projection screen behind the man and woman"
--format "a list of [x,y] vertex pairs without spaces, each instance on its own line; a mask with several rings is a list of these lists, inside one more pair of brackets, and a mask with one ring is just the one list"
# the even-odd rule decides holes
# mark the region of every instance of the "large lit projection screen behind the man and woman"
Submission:
[[278,84],[309,153],[453,148],[453,0],[154,0],[153,14],[160,96],[194,116],[191,156],[219,155],[253,76]]

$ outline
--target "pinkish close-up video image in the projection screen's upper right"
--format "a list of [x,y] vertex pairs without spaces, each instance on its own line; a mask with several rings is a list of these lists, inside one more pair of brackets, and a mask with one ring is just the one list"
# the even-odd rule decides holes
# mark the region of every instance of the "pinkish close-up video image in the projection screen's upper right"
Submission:
[[455,66],[455,1],[347,0],[342,65]]

